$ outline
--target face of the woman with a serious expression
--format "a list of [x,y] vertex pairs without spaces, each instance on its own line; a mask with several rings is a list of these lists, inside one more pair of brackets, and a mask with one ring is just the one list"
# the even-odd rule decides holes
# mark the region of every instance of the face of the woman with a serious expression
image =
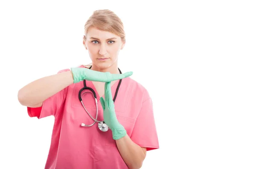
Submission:
[[119,51],[125,45],[119,36],[94,27],[88,29],[87,38],[84,37],[83,44],[88,50],[93,66],[99,69],[117,65]]

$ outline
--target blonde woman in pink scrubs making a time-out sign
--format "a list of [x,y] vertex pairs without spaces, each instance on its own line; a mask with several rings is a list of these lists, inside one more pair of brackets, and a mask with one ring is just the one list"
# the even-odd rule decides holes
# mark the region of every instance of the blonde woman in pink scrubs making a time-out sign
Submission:
[[[90,67],[61,70],[18,92],[30,117],[55,117],[45,168],[139,169],[146,151],[159,145],[148,91],[117,66],[125,45],[122,21],[112,11],[97,10],[84,29]],[[96,99],[86,89],[79,100],[84,83]],[[95,123],[86,110],[104,123]]]

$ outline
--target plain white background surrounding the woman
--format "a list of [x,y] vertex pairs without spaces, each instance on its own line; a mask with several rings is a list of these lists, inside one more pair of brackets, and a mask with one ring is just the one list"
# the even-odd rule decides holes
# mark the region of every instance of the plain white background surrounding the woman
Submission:
[[160,149],[142,169],[255,169],[255,8],[247,0],[1,1],[0,168],[44,168],[54,119],[30,118],[17,92],[90,63],[84,23],[110,9],[127,35],[119,68],[134,72],[154,104]]

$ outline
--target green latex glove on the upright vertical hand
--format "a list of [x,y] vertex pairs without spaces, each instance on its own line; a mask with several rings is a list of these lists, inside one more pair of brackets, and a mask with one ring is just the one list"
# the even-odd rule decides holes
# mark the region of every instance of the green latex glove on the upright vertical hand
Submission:
[[111,82],[105,83],[105,101],[101,97],[100,102],[103,108],[103,118],[105,124],[108,125],[110,130],[112,130],[113,139],[118,140],[126,135],[126,130],[116,118],[115,105],[112,99],[110,83]]

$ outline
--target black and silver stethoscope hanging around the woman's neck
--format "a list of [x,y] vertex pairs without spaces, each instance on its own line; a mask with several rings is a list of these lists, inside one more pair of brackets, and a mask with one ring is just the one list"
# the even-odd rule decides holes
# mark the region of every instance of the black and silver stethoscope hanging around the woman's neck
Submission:
[[[92,67],[92,66],[90,66],[90,68],[91,68],[91,67]],[[89,69],[90,69],[90,68],[89,68]],[[120,70],[119,68],[118,68],[118,70],[119,70],[119,73],[122,74],[122,72],[121,72],[121,70]],[[119,80],[118,86],[117,86],[117,88],[116,88],[116,93],[115,93],[115,96],[114,96],[114,99],[113,99],[114,102],[115,102],[115,100],[116,100],[116,96],[117,96],[119,87],[120,87],[120,85],[121,85],[121,82],[122,82],[122,79]],[[84,93],[82,93],[82,91],[83,91],[83,90],[86,90],[86,89],[90,90],[92,93],[90,93],[90,92],[84,92],[84,93],[90,93],[90,94],[92,94],[93,97],[94,97],[94,99],[95,99],[95,103],[96,103],[96,118],[93,118],[93,117],[90,115],[90,113],[86,110],[86,108],[84,107],[84,103],[83,103],[83,101],[82,101],[82,96],[84,95]],[[82,94],[81,94],[81,93],[82,93]],[[93,124],[86,125],[86,124],[82,123],[81,126],[82,126],[82,127],[91,127],[91,126],[93,126],[96,122],[98,122],[99,130],[101,130],[101,131],[103,131],[103,132],[108,131],[108,125],[105,124],[104,120],[102,120],[102,121],[98,121],[98,120],[97,120],[97,117],[98,117],[98,101],[97,101],[97,96],[96,96],[95,91],[94,91],[92,88],[86,86],[85,80],[84,80],[84,87],[81,88],[81,90],[79,91],[79,100],[80,100],[82,106],[84,107],[84,110],[87,112],[87,114],[90,116],[90,118],[92,118],[92,119],[94,120]]]

